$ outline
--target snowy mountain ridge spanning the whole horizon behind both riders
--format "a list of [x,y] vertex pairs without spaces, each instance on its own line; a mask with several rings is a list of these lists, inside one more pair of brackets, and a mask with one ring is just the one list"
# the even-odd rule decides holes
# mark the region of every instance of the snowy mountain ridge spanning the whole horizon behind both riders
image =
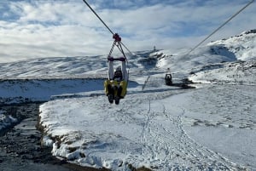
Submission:
[[[186,55],[188,51],[186,48],[176,53],[174,50],[148,50],[137,52],[136,56],[128,55],[128,60],[131,71],[134,67],[149,71],[156,66],[161,71],[170,68],[174,77],[188,77],[190,72],[195,72],[194,68],[198,70],[198,67],[216,63],[255,60],[256,33],[255,30],[244,31],[238,36],[208,43]],[[106,56],[42,58],[3,63],[0,66],[0,78],[107,77]],[[146,62],[149,60],[149,63]]]

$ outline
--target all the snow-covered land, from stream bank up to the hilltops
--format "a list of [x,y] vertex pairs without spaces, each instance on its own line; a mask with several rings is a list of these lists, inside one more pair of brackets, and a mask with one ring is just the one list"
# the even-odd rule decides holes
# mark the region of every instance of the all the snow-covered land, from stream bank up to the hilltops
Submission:
[[[106,56],[2,64],[1,103],[48,101],[39,114],[44,145],[79,165],[256,170],[255,35],[245,31],[192,54],[129,56],[128,94],[119,105],[103,92]],[[167,68],[174,83],[189,77],[196,88],[166,86]]]

